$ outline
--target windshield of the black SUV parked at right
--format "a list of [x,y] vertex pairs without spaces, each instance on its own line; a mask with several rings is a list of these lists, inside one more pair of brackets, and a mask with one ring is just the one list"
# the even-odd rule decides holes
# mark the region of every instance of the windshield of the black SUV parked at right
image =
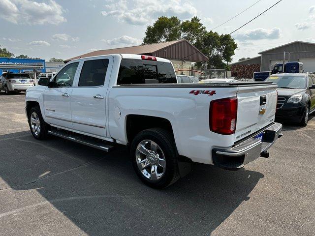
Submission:
[[306,77],[294,75],[269,76],[267,82],[278,84],[278,89],[305,89]]

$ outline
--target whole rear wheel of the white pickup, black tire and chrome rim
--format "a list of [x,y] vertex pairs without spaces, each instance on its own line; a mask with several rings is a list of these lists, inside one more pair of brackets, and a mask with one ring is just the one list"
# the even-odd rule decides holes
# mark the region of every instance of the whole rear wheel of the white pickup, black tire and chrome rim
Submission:
[[168,131],[141,131],[133,139],[130,152],[134,171],[146,185],[161,189],[180,178],[177,149]]

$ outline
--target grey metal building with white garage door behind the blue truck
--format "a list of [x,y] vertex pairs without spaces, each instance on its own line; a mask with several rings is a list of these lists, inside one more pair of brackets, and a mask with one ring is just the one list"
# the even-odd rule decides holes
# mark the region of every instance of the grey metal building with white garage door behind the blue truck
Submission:
[[260,71],[270,71],[276,63],[300,61],[305,72],[315,71],[315,43],[295,41],[276,48],[260,52]]

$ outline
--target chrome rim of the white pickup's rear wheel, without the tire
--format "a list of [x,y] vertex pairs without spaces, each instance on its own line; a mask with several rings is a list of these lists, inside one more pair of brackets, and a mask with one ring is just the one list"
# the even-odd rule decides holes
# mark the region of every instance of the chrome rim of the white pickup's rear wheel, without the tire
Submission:
[[152,140],[141,141],[136,149],[136,163],[143,176],[158,180],[165,173],[166,161],[162,149]]

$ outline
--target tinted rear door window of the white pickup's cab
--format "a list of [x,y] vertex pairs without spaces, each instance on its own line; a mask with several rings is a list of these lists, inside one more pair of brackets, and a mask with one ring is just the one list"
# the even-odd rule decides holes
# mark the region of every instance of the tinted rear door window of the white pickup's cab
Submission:
[[108,59],[84,61],[79,79],[79,87],[104,85],[108,62]]

